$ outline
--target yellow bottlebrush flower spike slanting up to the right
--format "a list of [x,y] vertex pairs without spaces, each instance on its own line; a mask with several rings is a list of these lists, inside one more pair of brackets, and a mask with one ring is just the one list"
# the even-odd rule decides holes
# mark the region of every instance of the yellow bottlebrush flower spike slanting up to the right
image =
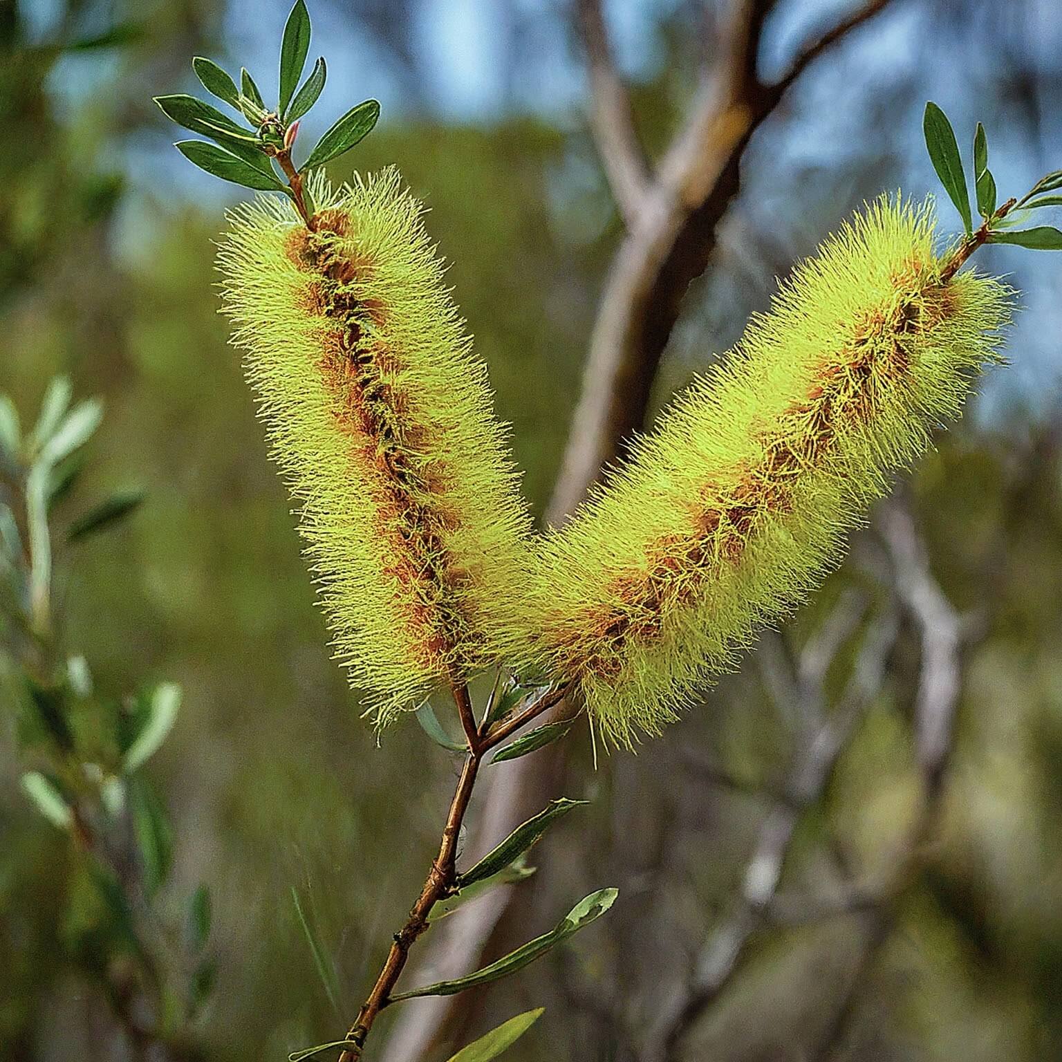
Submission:
[[606,739],[658,732],[732,666],[959,413],[1009,291],[969,272],[942,284],[942,269],[928,206],[877,201],[545,537],[519,638]]

